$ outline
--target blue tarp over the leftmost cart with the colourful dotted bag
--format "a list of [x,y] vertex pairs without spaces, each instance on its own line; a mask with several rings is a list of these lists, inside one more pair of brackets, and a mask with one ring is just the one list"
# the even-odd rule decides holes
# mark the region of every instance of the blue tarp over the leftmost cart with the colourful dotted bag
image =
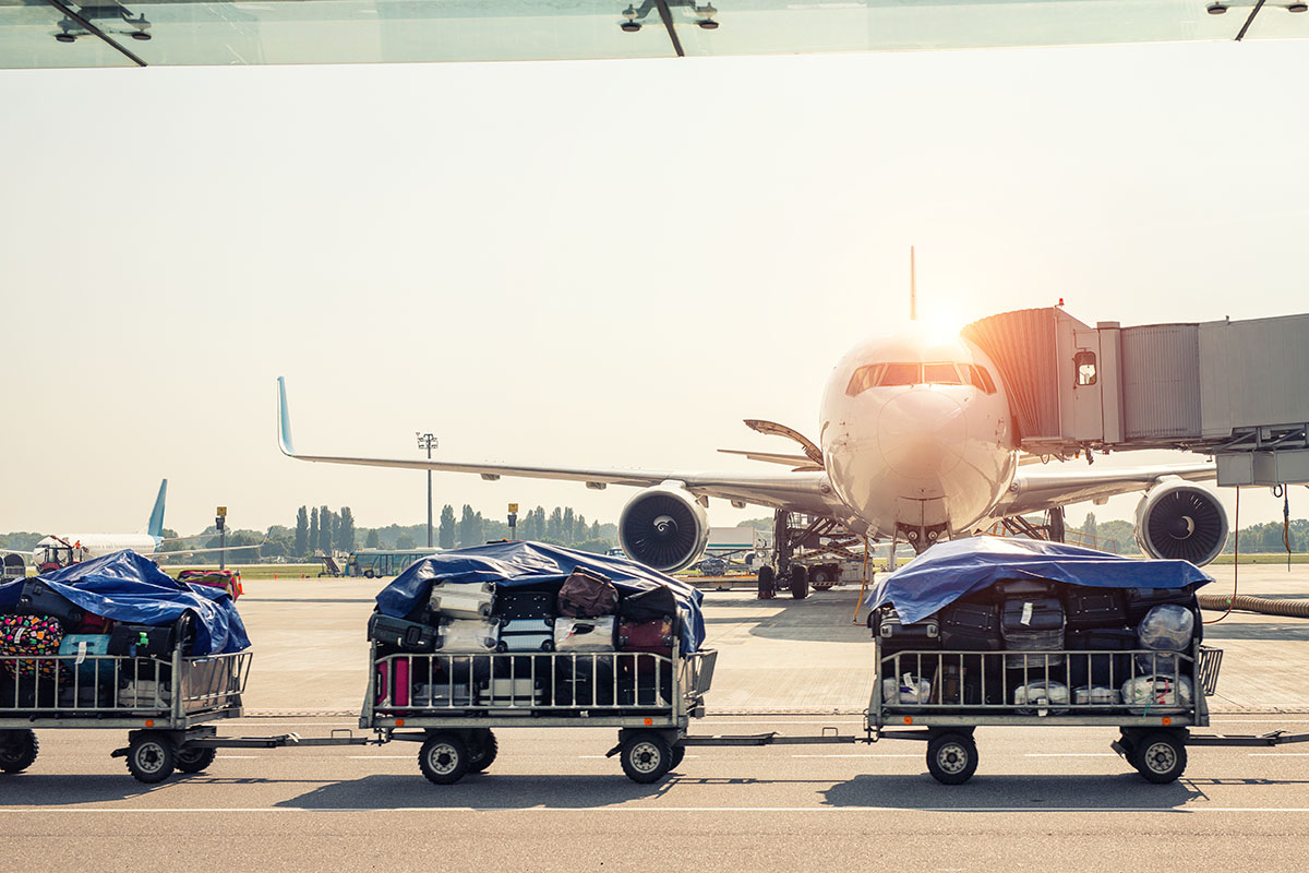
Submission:
[[[179,582],[144,555],[123,550],[39,576],[56,593],[94,615],[115,622],[171,624],[195,613],[192,654],[223,654],[250,648],[245,624],[226,592]],[[0,611],[18,605],[22,581],[0,585]]]

